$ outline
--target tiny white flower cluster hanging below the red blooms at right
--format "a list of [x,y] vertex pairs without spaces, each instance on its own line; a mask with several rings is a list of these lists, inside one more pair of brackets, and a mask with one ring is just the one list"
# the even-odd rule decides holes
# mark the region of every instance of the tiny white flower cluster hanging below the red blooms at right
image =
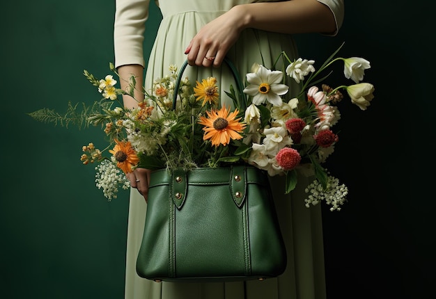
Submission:
[[327,190],[323,190],[320,182],[314,180],[304,191],[310,193],[309,197],[304,200],[306,207],[309,208],[311,204],[316,205],[324,200],[326,204],[332,205],[330,211],[341,211],[341,205],[347,200],[345,197],[348,195],[347,186],[339,185],[339,180],[331,175],[327,177]]

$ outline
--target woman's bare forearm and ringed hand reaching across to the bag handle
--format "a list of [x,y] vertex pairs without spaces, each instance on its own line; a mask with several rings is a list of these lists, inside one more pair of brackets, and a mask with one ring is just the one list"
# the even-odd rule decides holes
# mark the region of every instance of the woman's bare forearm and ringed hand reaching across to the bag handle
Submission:
[[189,65],[219,67],[247,28],[286,34],[334,34],[337,30],[332,10],[316,0],[241,4],[198,31],[185,50]]

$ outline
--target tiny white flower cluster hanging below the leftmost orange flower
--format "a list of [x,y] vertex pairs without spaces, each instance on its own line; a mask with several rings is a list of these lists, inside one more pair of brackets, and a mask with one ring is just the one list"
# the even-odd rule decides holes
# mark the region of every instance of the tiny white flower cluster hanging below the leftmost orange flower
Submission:
[[116,198],[116,193],[118,193],[118,185],[124,190],[130,188],[130,181],[125,177],[124,173],[116,167],[114,161],[103,160],[97,167],[95,174],[95,186],[99,189],[103,189],[104,197],[109,200],[109,202]]

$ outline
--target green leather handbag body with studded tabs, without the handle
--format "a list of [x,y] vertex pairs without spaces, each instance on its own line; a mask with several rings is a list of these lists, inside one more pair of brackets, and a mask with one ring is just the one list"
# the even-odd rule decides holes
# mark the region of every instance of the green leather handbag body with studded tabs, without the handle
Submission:
[[148,280],[263,280],[286,268],[267,174],[258,168],[151,175],[137,273]]

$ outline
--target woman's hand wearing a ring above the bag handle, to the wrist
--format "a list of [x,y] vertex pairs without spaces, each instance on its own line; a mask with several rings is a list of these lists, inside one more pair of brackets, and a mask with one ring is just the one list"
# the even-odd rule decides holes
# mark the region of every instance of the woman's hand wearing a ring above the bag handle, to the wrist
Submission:
[[189,42],[185,54],[189,65],[219,67],[228,49],[244,29],[242,10],[235,6],[224,15],[203,26]]

